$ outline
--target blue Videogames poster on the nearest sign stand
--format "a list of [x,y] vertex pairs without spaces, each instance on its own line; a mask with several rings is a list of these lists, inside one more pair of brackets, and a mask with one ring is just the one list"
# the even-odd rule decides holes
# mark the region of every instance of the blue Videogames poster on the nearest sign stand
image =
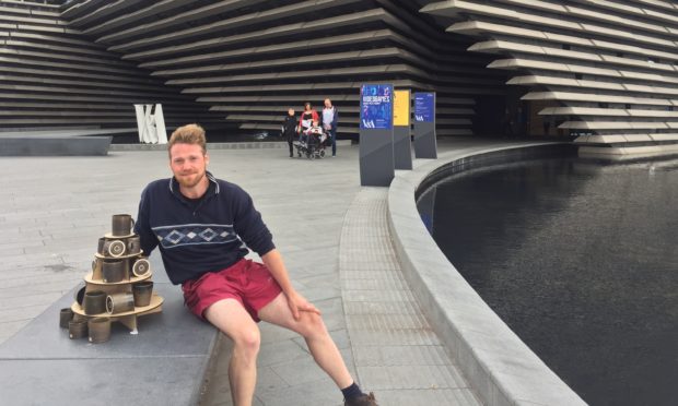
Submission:
[[363,84],[360,88],[360,129],[393,129],[394,86]]

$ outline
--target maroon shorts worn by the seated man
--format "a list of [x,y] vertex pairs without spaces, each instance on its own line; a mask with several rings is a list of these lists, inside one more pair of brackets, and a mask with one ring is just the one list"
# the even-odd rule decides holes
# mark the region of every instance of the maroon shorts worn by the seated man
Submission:
[[252,318],[259,321],[259,310],[282,291],[266,266],[252,260],[239,260],[219,272],[208,272],[198,279],[182,284],[184,302],[200,319],[207,308],[223,299],[235,299]]

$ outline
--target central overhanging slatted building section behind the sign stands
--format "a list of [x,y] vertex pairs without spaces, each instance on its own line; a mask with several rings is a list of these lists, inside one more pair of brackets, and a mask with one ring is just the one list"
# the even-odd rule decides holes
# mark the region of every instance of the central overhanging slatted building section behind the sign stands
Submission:
[[226,122],[279,130],[289,107],[340,109],[358,134],[359,86],[388,82],[439,95],[439,134],[471,134],[476,97],[503,96],[505,72],[466,51],[420,4],[400,0],[90,0],[61,16],[125,61],[179,86]]

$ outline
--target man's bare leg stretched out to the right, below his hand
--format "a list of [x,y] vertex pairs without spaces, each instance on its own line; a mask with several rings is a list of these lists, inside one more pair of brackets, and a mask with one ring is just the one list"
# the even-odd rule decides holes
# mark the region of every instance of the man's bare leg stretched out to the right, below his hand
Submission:
[[284,294],[278,295],[270,303],[259,310],[259,319],[290,329],[301,334],[317,365],[335,381],[339,389],[353,383],[341,353],[327,332],[320,315],[302,311],[300,320],[294,320]]

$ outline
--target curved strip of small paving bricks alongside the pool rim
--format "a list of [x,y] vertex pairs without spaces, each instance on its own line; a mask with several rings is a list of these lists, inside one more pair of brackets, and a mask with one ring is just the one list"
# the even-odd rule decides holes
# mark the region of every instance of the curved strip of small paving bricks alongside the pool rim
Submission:
[[404,279],[387,194],[363,188],[341,231],[341,296],[359,380],[383,405],[479,405]]

